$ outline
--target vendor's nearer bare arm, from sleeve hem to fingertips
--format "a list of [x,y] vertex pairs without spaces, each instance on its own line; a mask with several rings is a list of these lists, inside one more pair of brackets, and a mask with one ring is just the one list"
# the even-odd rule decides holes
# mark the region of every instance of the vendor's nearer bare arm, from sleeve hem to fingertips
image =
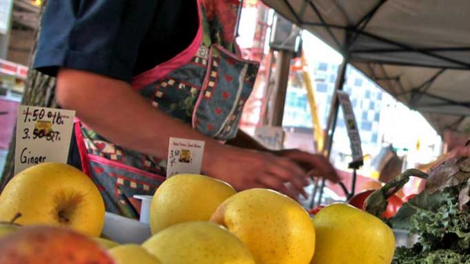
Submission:
[[202,171],[234,188],[272,188],[292,195],[290,182],[303,193],[306,172],[295,162],[267,152],[224,146],[150,106],[127,82],[87,71],[61,69],[56,87],[62,107],[106,139],[125,148],[166,157],[170,137],[205,141]]

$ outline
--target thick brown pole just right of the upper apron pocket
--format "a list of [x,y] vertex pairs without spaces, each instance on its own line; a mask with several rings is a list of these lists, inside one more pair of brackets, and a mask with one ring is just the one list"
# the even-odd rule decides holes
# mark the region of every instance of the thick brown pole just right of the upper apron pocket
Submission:
[[278,51],[275,72],[275,89],[272,108],[270,109],[269,124],[271,126],[282,126],[284,117],[284,104],[286,103],[287,85],[289,80],[290,60],[293,58],[292,51]]

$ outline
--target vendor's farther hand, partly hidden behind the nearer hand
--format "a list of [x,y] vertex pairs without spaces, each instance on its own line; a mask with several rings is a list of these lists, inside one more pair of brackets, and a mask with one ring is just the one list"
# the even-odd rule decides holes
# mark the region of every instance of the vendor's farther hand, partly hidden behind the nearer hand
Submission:
[[295,161],[308,172],[308,177],[322,177],[331,182],[339,182],[340,177],[331,163],[323,155],[315,155],[302,150],[277,150],[273,152],[279,157],[287,157]]

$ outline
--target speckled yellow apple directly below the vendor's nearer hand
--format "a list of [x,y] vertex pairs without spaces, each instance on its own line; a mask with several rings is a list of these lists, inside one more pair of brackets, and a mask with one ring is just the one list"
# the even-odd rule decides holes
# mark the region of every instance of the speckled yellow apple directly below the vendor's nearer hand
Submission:
[[315,230],[308,213],[276,191],[237,193],[220,204],[211,221],[238,236],[256,263],[308,263],[313,256]]

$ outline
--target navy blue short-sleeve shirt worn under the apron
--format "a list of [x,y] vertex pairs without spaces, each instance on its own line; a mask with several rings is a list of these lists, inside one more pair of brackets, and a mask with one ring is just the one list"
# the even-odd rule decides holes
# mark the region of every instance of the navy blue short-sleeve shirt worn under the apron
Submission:
[[189,46],[197,21],[195,0],[49,0],[34,67],[131,82]]

